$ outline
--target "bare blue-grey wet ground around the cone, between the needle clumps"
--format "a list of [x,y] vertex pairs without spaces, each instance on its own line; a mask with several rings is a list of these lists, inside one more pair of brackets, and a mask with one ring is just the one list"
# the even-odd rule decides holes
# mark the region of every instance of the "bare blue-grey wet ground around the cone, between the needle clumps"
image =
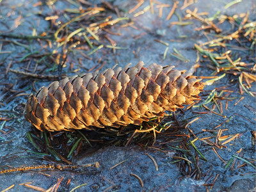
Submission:
[[[44,31],[49,31],[49,28],[51,28],[53,34],[56,28],[70,20],[69,15],[65,15],[65,12],[70,13],[79,9],[76,1],[45,2],[45,4],[40,4],[40,1],[2,1],[0,3],[0,34],[43,36]],[[87,1],[79,2],[83,7],[88,6],[86,5]],[[103,38],[102,35],[99,42],[94,41],[93,45],[96,48],[104,44],[104,47],[99,49],[99,51],[88,54],[92,51],[88,44],[82,42],[82,45],[74,45],[76,42],[74,38],[72,51],[68,53],[67,62],[62,69],[63,76],[83,74],[88,72],[88,70],[93,72],[99,68],[104,70],[104,68],[113,67],[115,63],[118,63],[121,67],[124,67],[127,63],[135,65],[138,61],[144,61],[145,65],[154,62],[161,65],[175,65],[176,68],[180,70],[186,69],[190,73],[193,73],[195,71],[194,66],[200,63],[201,67],[196,69],[195,75],[211,76],[213,70],[209,70],[206,67],[210,65],[211,61],[198,61],[198,53],[194,47],[194,44],[202,44],[208,41],[204,31],[194,30],[201,27],[200,22],[193,20],[193,24],[184,26],[172,25],[172,27],[170,27],[170,22],[179,21],[179,16],[185,17],[186,9],[193,11],[195,8],[198,9],[198,12],[208,12],[209,17],[217,12],[220,12],[220,15],[249,12],[249,19],[255,21],[253,17],[255,15],[255,11],[253,13],[253,10],[255,10],[254,1],[243,1],[243,3],[237,3],[225,8],[227,4],[225,1],[207,1],[205,3],[204,0],[200,0],[184,8],[184,10],[180,9],[183,4],[183,1],[180,1],[178,4],[179,8],[175,10],[175,14],[168,21],[166,21],[166,17],[168,17],[173,7],[173,2],[170,3],[170,1],[159,1],[163,4],[171,5],[170,7],[163,8],[161,17],[159,17],[160,8],[157,8],[157,3],[154,4],[154,14],[152,14],[150,8],[148,10],[150,1],[146,1],[138,10],[132,13],[129,13],[129,10],[138,4],[137,1],[109,2],[113,5],[114,10],[118,8],[123,18],[127,17],[127,19],[120,20],[117,24],[106,28],[108,31],[112,31],[112,33],[105,31],[105,35],[115,41],[116,46],[120,47],[120,49],[113,51],[113,49],[107,47],[106,45],[111,45],[111,41],[108,38]],[[228,3],[230,2],[232,1],[228,1]],[[102,6],[102,4],[97,1],[90,1],[90,6]],[[106,4],[104,6],[106,7]],[[145,13],[141,13],[138,16],[134,15],[140,13],[143,9]],[[56,20],[56,26],[52,25],[49,20],[45,20],[45,17],[58,15],[58,13],[64,16]],[[74,14],[76,15],[76,13]],[[102,15],[102,18],[105,16]],[[113,10],[109,11],[108,16],[112,16],[113,19],[117,18]],[[185,21],[190,22],[191,20]],[[94,22],[94,20],[86,20],[85,24],[90,24],[90,22]],[[72,27],[75,28],[75,26]],[[231,25],[221,26],[221,29],[225,31],[230,30],[230,28],[232,28]],[[113,33],[120,33],[121,35]],[[86,34],[90,35],[89,33]],[[52,79],[36,79],[26,74],[17,74],[17,71],[15,73],[12,70],[29,74],[51,75],[51,78],[58,78],[58,66],[56,63],[60,61],[61,51],[64,50],[63,47],[58,47],[58,45],[57,42],[52,42],[50,46],[49,42],[42,39],[31,38],[28,40],[17,36],[11,38],[10,36],[3,35],[0,38],[0,170],[7,169],[8,166],[20,167],[49,163],[49,161],[42,159],[42,157],[29,152],[37,152],[37,150],[26,138],[26,132],[31,131],[31,125],[24,120],[22,111],[28,95],[38,90],[41,86],[51,83]],[[167,47],[168,49],[166,49]],[[184,61],[173,56],[175,54],[173,48],[177,49],[184,56]],[[54,49],[56,53],[54,52],[51,56],[44,58]],[[255,57],[255,55],[251,55],[248,51],[241,50],[241,52],[243,52],[244,58],[248,60],[250,60],[250,57]],[[86,54],[86,56],[81,54]],[[29,56],[31,56],[31,60],[28,60]],[[254,84],[251,88],[252,92],[255,92]],[[27,182],[31,182],[33,186],[49,189],[62,177],[63,180],[59,186],[59,191],[70,191],[81,184],[86,185],[76,189],[76,191],[253,190],[255,188],[255,168],[253,167],[253,164],[255,164],[255,145],[253,145],[251,131],[255,131],[255,98],[246,93],[241,95],[237,81],[234,81],[232,76],[228,75],[211,86],[206,86],[205,93],[202,93],[203,98],[206,99],[207,96],[204,97],[204,94],[209,94],[214,88],[219,88],[217,90],[220,93],[223,86],[228,87],[225,90],[230,90],[228,97],[236,98],[228,102],[227,109],[223,107],[223,115],[225,117],[212,113],[193,113],[195,111],[205,111],[202,108],[191,108],[185,111],[184,115],[179,115],[180,121],[200,116],[198,120],[188,126],[196,136],[201,132],[200,138],[216,135],[217,132],[203,132],[202,129],[212,130],[217,125],[220,125],[221,122],[225,123],[219,129],[228,129],[223,131],[223,135],[239,134],[236,139],[227,143],[225,147],[216,149],[225,163],[214,153],[211,146],[206,145],[202,141],[195,141],[196,148],[207,159],[207,161],[202,161],[202,158],[200,159],[200,167],[197,169],[197,173],[200,170],[200,179],[186,176],[186,172],[180,171],[177,164],[172,163],[175,160],[173,156],[177,155],[176,150],[162,152],[156,150],[156,148],[143,149],[138,145],[129,147],[102,147],[100,145],[98,147],[99,150],[84,150],[79,152],[76,157],[69,159],[72,163],[79,165],[99,162],[99,168],[80,167],[74,170],[47,169],[42,172],[4,173],[0,174],[0,190],[14,184],[10,191],[34,191],[34,189],[19,185]],[[237,100],[242,96],[244,96],[244,99],[236,104]],[[188,129],[182,132],[189,133]],[[193,139],[193,136],[191,136],[191,141]],[[161,140],[157,140],[155,146],[159,143],[161,143]],[[175,143],[175,146],[179,147],[180,144]],[[193,148],[189,149],[193,150]],[[238,152],[241,149],[242,152]],[[156,159],[158,171],[154,162],[146,153]],[[252,166],[250,164],[241,166],[244,161],[236,159],[236,162],[232,161],[230,165],[234,166],[233,168],[225,168],[232,155],[247,159],[252,162]],[[125,162],[110,169],[122,161]],[[140,184],[140,179],[131,175],[131,173],[140,177],[143,181],[143,187]],[[212,183],[214,184],[211,185]],[[205,188],[204,184],[210,185],[207,185],[207,188]]]

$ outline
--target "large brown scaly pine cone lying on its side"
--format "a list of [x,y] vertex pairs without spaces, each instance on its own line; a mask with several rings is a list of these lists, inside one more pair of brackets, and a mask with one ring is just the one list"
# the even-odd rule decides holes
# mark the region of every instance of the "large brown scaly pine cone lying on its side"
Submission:
[[43,86],[29,96],[24,115],[40,131],[140,125],[193,103],[204,87],[197,77],[172,66],[130,65]]

